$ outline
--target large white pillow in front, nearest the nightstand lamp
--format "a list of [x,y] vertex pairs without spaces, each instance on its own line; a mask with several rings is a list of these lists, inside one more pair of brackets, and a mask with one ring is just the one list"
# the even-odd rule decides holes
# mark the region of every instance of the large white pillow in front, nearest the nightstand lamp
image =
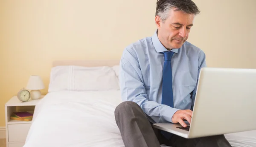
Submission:
[[56,66],[50,73],[48,92],[119,90],[111,67]]

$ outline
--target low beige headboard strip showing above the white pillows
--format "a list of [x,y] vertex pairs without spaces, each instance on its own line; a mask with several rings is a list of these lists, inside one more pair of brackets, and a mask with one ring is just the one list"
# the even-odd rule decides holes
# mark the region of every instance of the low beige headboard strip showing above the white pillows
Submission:
[[64,66],[64,65],[76,65],[76,66],[86,66],[86,67],[96,67],[96,66],[114,66],[119,65],[119,60],[60,60],[53,61],[52,67]]

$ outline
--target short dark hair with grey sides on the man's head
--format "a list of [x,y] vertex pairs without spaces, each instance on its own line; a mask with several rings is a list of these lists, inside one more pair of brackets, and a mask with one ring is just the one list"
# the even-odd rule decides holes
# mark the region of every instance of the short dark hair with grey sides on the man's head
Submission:
[[164,23],[171,8],[176,8],[175,11],[183,11],[187,14],[196,15],[200,13],[200,10],[192,0],[157,0],[156,16],[159,16]]

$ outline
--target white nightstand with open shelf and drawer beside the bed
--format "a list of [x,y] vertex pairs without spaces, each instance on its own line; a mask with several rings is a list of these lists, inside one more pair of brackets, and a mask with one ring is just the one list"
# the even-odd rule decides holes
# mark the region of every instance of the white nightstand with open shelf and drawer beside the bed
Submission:
[[[43,98],[44,96],[41,96]],[[5,104],[6,119],[6,147],[23,147],[26,141],[31,122],[10,119],[13,112],[28,111],[34,113],[35,106],[41,99],[31,99],[29,102],[20,102],[13,96]]]

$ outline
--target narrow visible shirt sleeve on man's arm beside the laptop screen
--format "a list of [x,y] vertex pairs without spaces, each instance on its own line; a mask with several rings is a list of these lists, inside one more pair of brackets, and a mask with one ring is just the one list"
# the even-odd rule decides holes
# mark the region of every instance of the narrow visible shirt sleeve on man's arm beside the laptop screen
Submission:
[[199,73],[201,71],[201,68],[207,67],[205,58],[206,57],[205,57],[204,52],[202,50],[200,50],[199,58],[198,58],[198,78],[197,78],[197,83],[196,83],[195,89],[192,92],[192,107],[191,107],[192,111],[194,109],[194,104],[195,104],[195,95],[196,95],[196,90],[197,90],[197,87],[198,87]]

